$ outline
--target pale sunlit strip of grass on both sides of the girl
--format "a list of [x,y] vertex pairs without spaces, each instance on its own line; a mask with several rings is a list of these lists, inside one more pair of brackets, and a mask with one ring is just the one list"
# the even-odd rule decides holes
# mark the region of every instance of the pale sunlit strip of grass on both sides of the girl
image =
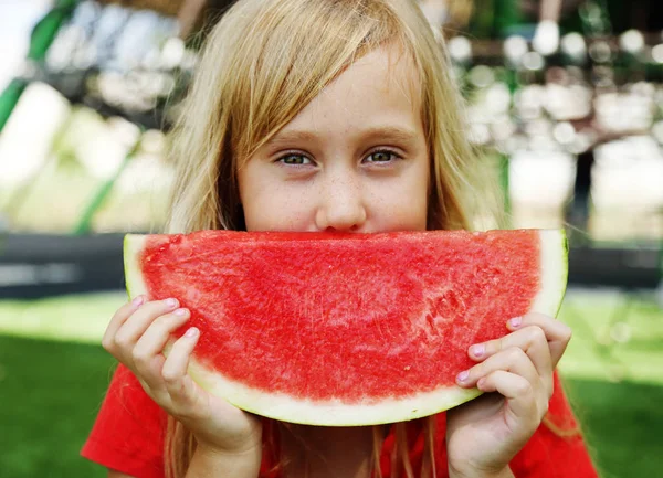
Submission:
[[[99,343],[124,291],[0,301],[0,333]],[[663,309],[649,297],[571,290],[559,316],[573,329],[565,376],[663,384]]]

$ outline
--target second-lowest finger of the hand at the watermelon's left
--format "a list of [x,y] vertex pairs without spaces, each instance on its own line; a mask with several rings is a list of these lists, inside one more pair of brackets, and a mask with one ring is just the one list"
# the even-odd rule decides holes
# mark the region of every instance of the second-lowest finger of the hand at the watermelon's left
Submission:
[[[136,342],[131,352],[134,367],[155,389],[164,389],[161,380],[162,357],[161,352],[170,336],[189,319],[188,309],[177,309],[171,314],[155,319],[145,333]],[[159,358],[159,360],[155,360]],[[159,386],[160,384],[160,386]]]

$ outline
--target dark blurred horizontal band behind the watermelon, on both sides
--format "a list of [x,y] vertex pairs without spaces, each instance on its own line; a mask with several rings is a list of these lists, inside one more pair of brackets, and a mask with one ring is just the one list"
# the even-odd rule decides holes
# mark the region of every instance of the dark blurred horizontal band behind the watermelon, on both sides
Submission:
[[[9,234],[0,238],[0,299],[122,290],[123,234]],[[569,287],[655,289],[661,248],[571,247]]]

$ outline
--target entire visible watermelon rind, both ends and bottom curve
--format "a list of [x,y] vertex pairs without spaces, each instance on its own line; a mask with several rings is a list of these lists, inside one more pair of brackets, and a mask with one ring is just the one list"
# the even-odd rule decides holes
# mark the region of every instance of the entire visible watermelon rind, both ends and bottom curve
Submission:
[[[568,245],[562,230],[539,230],[541,289],[530,311],[556,317],[568,279]],[[140,273],[146,235],[127,234],[124,241],[125,276],[129,298],[147,294]],[[167,353],[167,350],[165,351]],[[194,358],[189,364],[191,378],[209,393],[223,397],[246,412],[283,422],[318,426],[364,426],[406,422],[453,408],[482,392],[477,389],[443,386],[410,397],[347,404],[338,401],[299,400],[285,394],[265,393],[212,372]]]

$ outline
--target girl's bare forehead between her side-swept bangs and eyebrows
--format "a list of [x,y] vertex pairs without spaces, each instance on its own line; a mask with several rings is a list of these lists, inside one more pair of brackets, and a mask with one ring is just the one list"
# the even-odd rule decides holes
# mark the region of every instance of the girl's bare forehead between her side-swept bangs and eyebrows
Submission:
[[420,92],[420,78],[410,54],[397,45],[383,45],[356,60],[282,131],[329,128],[329,121],[337,126],[345,121],[346,129],[369,123],[418,129]]

